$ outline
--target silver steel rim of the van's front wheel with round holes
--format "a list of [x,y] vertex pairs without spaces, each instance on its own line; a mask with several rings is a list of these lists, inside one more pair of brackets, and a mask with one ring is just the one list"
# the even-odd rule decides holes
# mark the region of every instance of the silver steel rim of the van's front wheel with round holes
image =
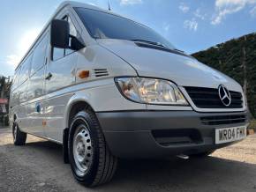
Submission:
[[77,166],[77,174],[85,175],[93,160],[92,140],[87,125],[80,125],[74,134],[73,158]]

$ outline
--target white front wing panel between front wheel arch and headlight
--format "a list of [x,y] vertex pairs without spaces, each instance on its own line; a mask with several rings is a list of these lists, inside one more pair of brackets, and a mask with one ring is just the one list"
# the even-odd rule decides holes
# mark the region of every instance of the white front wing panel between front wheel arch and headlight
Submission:
[[76,91],[68,101],[65,108],[65,128],[69,127],[69,114],[72,106],[79,101],[86,102],[95,112],[146,110],[145,104],[134,103],[124,99],[117,90],[117,85],[112,78],[76,85]]

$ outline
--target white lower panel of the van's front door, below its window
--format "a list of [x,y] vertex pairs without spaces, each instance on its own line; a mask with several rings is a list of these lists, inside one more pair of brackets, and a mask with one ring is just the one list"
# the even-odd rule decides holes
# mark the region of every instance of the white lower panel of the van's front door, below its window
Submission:
[[[46,93],[56,92],[56,90],[64,89],[65,87],[72,86],[75,84],[75,69],[78,59],[77,53],[64,56],[57,61],[50,61],[47,65],[46,76],[51,78],[45,81]],[[46,102],[45,126],[46,137],[52,138],[57,141],[61,141],[62,134],[61,128],[64,126],[64,107],[71,97],[71,93],[67,95],[56,95]]]

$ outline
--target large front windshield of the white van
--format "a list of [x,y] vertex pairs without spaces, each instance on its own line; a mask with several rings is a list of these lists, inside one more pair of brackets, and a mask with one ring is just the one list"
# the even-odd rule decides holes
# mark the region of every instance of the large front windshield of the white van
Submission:
[[158,33],[130,19],[86,8],[75,8],[75,10],[87,27],[88,32],[95,39],[154,42],[158,45],[175,49],[169,41]]

